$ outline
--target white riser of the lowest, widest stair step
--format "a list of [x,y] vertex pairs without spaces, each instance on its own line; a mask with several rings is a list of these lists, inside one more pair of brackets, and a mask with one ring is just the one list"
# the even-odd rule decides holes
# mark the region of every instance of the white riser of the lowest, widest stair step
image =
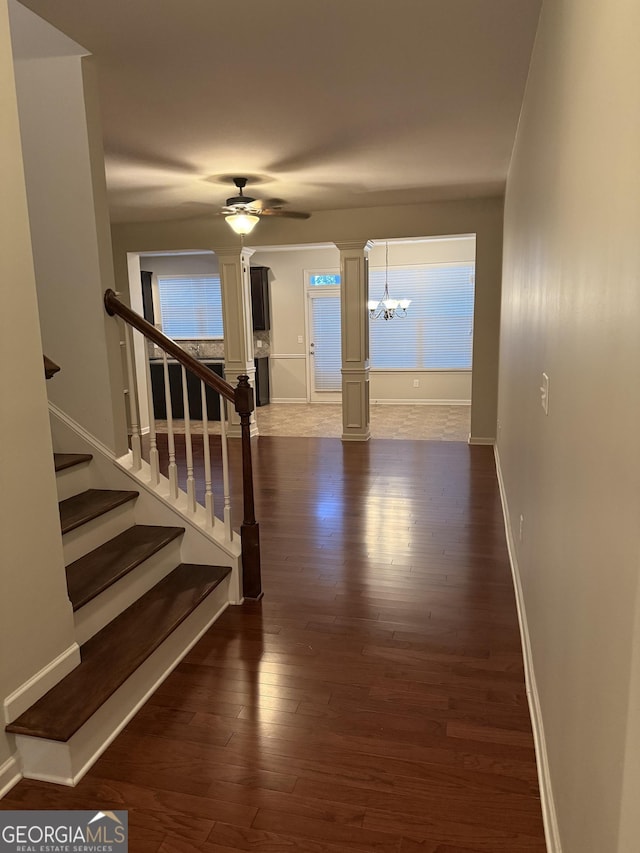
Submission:
[[60,785],[76,785],[116,735],[151,696],[189,649],[228,605],[228,578],[66,743],[16,735],[23,775]]

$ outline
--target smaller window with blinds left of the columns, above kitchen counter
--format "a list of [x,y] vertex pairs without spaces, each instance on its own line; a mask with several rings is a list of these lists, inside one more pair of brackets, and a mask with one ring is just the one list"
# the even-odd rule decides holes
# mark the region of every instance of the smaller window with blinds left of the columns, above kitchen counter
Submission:
[[158,276],[162,331],[170,338],[222,338],[217,275]]

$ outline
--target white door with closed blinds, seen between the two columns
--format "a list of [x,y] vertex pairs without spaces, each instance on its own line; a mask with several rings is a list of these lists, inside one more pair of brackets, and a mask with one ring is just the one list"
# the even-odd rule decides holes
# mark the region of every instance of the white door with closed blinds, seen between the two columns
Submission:
[[340,288],[308,293],[309,389],[312,403],[342,397]]

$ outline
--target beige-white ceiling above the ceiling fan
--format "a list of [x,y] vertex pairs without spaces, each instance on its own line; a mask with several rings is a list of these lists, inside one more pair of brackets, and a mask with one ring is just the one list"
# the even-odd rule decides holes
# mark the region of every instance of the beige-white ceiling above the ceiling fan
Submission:
[[504,189],[541,0],[23,0],[99,67],[114,222]]

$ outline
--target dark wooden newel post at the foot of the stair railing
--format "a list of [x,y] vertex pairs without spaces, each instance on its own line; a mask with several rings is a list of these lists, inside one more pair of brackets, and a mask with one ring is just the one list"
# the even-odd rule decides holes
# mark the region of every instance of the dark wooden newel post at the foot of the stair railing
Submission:
[[260,526],[256,521],[253,500],[253,467],[251,462],[251,412],[253,388],[248,376],[238,376],[235,389],[235,407],[240,416],[242,441],[242,492],[244,519],[240,527],[242,540],[242,594],[245,598],[262,598],[260,574]]

